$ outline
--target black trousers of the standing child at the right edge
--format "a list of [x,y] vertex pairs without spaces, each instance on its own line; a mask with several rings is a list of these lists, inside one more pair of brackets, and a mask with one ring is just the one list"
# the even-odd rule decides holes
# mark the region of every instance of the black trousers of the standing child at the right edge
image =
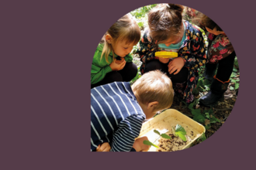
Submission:
[[218,64],[206,63],[206,66],[207,68],[216,68],[217,66],[216,78],[223,82],[228,81],[233,72],[235,56],[236,53],[233,52],[226,58],[220,59]]

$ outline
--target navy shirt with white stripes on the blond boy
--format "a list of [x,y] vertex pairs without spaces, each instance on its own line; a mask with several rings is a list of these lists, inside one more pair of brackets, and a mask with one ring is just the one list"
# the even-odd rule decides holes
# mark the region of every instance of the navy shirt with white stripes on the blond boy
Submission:
[[146,116],[128,82],[91,90],[91,151],[109,142],[110,151],[130,151]]

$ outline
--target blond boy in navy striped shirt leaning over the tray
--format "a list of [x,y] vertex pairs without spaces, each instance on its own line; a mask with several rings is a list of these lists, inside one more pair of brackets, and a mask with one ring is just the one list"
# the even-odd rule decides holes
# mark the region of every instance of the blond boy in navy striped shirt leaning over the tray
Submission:
[[[171,107],[174,97],[171,80],[159,70],[129,82],[114,82],[91,90],[91,151],[109,143],[110,151],[147,151],[137,138],[145,119]],[[137,140],[135,140],[137,138]]]

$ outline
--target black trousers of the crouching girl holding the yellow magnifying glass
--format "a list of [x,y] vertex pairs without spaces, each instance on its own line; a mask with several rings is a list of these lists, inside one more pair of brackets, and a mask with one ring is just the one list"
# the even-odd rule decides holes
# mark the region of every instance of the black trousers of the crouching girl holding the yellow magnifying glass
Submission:
[[189,76],[189,70],[183,67],[177,74],[168,72],[168,63],[161,63],[159,60],[152,60],[145,66],[145,73],[152,70],[161,70],[161,72],[166,73],[168,77],[171,78],[172,83],[184,83]]

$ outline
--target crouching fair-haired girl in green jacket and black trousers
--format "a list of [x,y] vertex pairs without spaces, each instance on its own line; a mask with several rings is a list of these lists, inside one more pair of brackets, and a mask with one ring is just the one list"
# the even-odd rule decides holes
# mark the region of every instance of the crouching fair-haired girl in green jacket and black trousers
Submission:
[[114,81],[130,81],[137,66],[130,55],[140,41],[140,27],[130,14],[114,23],[103,36],[92,60],[91,88]]

